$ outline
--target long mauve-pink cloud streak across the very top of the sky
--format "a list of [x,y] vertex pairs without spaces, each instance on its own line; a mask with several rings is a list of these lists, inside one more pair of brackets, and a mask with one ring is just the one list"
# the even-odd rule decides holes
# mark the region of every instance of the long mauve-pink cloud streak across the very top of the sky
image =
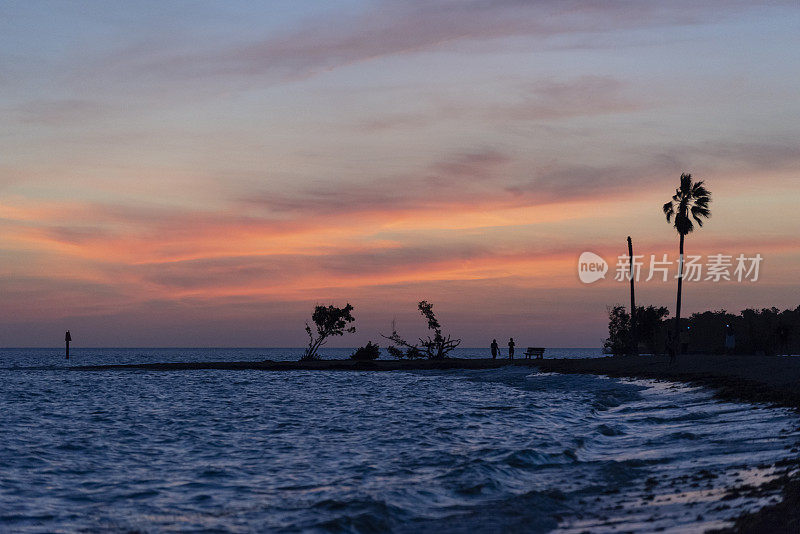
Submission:
[[699,24],[750,7],[750,3],[741,1],[700,5],[690,1],[389,0],[347,16],[309,18],[294,31],[250,44],[203,52],[143,51],[137,47],[127,57],[116,55],[113,64],[166,77],[267,77],[285,81],[467,41],[519,36],[543,40]]

